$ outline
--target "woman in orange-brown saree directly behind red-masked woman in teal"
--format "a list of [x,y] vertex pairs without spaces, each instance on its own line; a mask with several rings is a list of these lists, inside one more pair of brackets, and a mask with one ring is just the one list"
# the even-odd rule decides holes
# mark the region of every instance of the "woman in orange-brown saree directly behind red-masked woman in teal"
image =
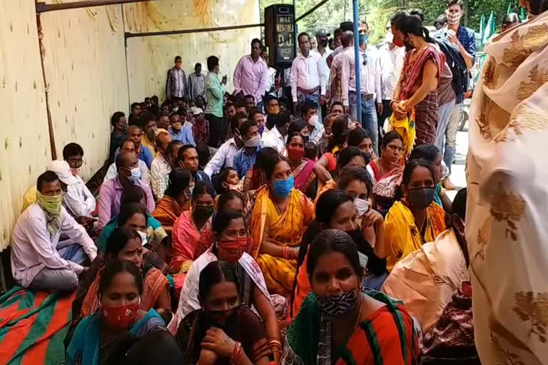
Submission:
[[[128,260],[133,262],[141,274],[143,290],[141,290],[141,299],[139,308],[144,311],[148,309],[158,309],[158,312],[166,317],[171,313],[171,298],[169,295],[169,282],[166,276],[158,269],[143,262],[143,242],[141,235],[131,227],[118,227],[108,238],[104,259],[106,265],[98,269],[95,273],[89,272],[86,282],[91,282],[82,289],[86,292],[83,299],[80,317],[86,317],[99,308],[101,298],[98,297],[101,278],[105,274],[108,264],[115,260]],[[93,277],[92,275],[95,274]]]

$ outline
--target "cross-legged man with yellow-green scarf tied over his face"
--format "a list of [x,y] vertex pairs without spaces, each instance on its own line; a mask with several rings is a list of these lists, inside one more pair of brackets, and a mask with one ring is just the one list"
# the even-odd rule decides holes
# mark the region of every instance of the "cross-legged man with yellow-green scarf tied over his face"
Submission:
[[[53,171],[39,176],[36,189],[36,202],[14,228],[11,274],[31,290],[70,292],[85,270],[81,265],[97,256],[97,247],[61,205],[61,183]],[[60,249],[61,234],[71,245]]]

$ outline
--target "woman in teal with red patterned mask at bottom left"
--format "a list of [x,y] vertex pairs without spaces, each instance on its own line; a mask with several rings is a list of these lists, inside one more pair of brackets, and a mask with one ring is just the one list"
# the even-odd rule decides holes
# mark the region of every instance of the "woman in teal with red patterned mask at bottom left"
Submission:
[[[140,240],[136,232],[135,237]],[[166,330],[154,309],[143,310],[139,304],[143,279],[133,262],[109,262],[95,289],[93,294],[101,298],[101,310],[91,312],[76,327],[66,350],[67,365],[103,364],[122,336],[142,337],[151,331]]]

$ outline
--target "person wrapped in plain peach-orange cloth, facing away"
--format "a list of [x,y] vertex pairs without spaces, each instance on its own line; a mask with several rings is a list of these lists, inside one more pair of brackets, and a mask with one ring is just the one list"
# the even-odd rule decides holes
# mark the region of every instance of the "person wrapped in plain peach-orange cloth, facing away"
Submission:
[[382,292],[400,299],[416,317],[422,331],[428,331],[452,300],[462,282],[470,281],[465,239],[466,188],[457,192],[452,205],[451,228],[427,242],[421,250],[397,262]]

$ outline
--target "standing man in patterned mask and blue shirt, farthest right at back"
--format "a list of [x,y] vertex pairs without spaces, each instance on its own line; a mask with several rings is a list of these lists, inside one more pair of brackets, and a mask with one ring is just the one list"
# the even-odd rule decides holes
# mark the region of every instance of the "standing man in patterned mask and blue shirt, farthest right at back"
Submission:
[[[460,19],[464,15],[464,2],[462,0],[448,0],[447,11],[447,39],[459,48],[462,58],[465,58],[466,66],[470,69],[476,61],[476,36],[472,29],[460,25]],[[451,114],[447,130],[445,131],[445,153],[443,153],[443,161],[449,173],[451,174],[451,165],[455,158],[457,147],[457,131],[459,128],[460,118],[462,117],[462,106],[465,101],[466,91],[457,94],[455,98],[455,108]],[[447,190],[455,190],[455,185],[451,183],[450,178],[443,182],[443,187]]]

